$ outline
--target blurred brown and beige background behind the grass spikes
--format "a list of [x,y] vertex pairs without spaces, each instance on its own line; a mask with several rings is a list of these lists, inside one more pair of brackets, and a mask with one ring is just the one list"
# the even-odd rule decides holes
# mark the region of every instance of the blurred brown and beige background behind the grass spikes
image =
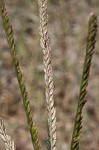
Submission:
[[[29,92],[33,119],[42,149],[46,149],[47,111],[43,54],[39,44],[37,0],[5,0],[13,25],[17,54]],[[70,149],[91,12],[99,18],[99,0],[49,0],[54,97],[57,109],[57,147]],[[99,35],[92,60],[87,103],[83,110],[80,150],[99,150]],[[0,18],[0,117],[17,150],[32,150],[27,120],[10,50]],[[4,145],[0,140],[0,149]]]

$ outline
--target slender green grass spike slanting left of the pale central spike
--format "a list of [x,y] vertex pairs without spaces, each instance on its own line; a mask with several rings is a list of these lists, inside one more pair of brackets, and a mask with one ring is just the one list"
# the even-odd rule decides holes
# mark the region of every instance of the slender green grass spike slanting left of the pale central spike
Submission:
[[10,47],[12,60],[13,60],[15,70],[16,70],[16,75],[17,75],[17,79],[18,79],[18,83],[19,83],[19,87],[20,87],[20,91],[21,91],[21,95],[23,99],[24,109],[25,109],[25,113],[27,116],[27,121],[28,121],[28,126],[30,129],[33,147],[35,150],[40,150],[41,147],[39,145],[38,132],[35,127],[35,123],[32,119],[32,111],[30,108],[29,100],[28,100],[28,94],[27,94],[27,90],[26,90],[24,80],[23,80],[23,75],[21,73],[19,61],[18,61],[17,54],[16,54],[16,46],[14,42],[12,25],[10,24],[10,21],[9,21],[9,17],[8,17],[5,4],[4,4],[4,0],[0,0],[0,12],[2,16],[3,27],[5,29],[7,41]]

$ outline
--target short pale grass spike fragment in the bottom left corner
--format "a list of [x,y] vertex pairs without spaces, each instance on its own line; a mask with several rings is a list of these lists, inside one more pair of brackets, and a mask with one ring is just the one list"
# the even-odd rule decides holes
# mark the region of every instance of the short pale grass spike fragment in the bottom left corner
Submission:
[[6,134],[6,129],[4,125],[4,121],[0,118],[0,138],[5,144],[6,150],[15,150],[14,141],[11,139],[9,135]]

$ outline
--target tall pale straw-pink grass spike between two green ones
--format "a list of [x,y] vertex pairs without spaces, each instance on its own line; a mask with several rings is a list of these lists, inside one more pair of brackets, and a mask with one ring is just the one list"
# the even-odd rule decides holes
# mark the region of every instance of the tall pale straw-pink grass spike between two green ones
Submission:
[[56,150],[56,110],[53,97],[53,73],[51,66],[51,48],[48,36],[47,0],[38,0],[40,14],[40,44],[44,54],[44,72],[46,84],[46,102],[48,110],[48,126],[51,150]]

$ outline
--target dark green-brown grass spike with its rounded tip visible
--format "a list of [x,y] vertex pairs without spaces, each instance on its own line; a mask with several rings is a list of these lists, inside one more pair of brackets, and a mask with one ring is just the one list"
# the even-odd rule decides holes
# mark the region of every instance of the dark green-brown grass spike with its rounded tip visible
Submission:
[[72,142],[71,142],[71,150],[79,150],[80,134],[82,131],[82,109],[86,102],[85,100],[85,96],[87,93],[86,88],[88,85],[92,55],[94,53],[96,34],[97,34],[97,17],[92,13],[89,20],[86,56],[85,56],[85,62],[83,67],[77,113],[76,113],[75,125],[74,125],[74,132],[73,132]]

